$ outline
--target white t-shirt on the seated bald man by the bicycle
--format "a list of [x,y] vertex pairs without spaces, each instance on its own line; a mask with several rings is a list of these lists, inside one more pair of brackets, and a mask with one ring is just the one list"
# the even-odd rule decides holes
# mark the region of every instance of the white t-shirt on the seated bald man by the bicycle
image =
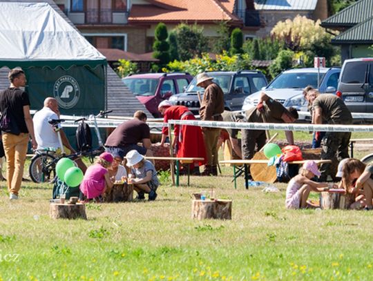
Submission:
[[37,141],[37,149],[48,147],[60,148],[57,133],[53,130],[52,125],[48,123],[50,119],[59,119],[57,114],[50,108],[44,107],[35,113],[32,122],[34,123],[35,139]]

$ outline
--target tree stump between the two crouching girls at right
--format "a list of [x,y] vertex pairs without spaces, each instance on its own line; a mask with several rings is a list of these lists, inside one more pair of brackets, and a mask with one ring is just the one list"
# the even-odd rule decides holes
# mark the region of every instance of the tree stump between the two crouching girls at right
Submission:
[[350,209],[350,205],[355,202],[354,195],[343,193],[320,193],[320,207],[328,209]]

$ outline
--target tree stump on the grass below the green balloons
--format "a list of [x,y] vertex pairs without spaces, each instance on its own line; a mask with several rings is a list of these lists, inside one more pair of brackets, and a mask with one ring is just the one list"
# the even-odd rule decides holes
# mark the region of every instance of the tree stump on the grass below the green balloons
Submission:
[[77,204],[55,204],[49,206],[49,216],[52,219],[87,219],[86,206],[81,203]]

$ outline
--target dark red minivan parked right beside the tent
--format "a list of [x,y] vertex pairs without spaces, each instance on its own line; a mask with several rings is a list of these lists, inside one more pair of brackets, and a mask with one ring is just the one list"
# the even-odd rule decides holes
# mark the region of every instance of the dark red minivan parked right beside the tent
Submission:
[[158,104],[172,95],[182,93],[192,79],[189,73],[172,72],[129,75],[122,81],[153,117],[162,117]]

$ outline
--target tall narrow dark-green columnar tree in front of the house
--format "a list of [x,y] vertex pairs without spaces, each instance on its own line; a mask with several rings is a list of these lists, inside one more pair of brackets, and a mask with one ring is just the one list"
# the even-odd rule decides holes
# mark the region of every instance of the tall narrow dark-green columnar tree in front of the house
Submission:
[[158,23],[155,28],[155,41],[153,43],[153,57],[160,60],[160,65],[165,66],[170,61],[170,45],[166,41],[169,34],[164,23]]

